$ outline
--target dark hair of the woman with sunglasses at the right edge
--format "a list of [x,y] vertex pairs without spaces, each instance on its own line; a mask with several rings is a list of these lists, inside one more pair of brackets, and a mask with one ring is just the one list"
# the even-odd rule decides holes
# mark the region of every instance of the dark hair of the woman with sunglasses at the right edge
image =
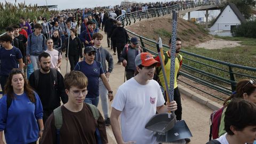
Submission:
[[256,90],[256,84],[251,84],[249,79],[242,79],[236,84],[236,91],[227,98],[223,105],[227,106],[227,102],[233,98],[242,98],[243,94],[251,95]]

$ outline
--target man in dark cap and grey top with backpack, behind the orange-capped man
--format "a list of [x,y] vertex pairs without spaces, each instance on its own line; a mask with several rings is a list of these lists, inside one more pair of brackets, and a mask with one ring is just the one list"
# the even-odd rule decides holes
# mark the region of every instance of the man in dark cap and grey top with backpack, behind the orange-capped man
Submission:
[[122,50],[120,62],[123,63],[126,72],[126,79],[129,80],[130,78],[134,77],[136,73],[136,66],[135,66],[135,57],[141,53],[142,50],[138,45],[137,37],[131,38],[131,44],[126,44],[124,49]]

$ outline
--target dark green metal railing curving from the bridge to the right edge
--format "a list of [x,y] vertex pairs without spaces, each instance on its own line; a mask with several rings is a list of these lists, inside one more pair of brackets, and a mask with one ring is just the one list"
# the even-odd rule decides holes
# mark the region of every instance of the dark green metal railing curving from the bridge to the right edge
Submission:
[[[185,4],[175,4],[169,7],[148,9],[146,11],[136,11],[128,14],[120,15],[117,20],[122,21],[123,26],[131,25],[131,22],[135,23],[142,19],[148,19],[153,17],[160,17],[166,14],[171,14],[172,10],[182,11],[190,9],[197,6],[205,6],[212,4],[220,4],[223,1],[206,1],[206,2],[190,2]],[[157,55],[156,43],[155,41],[145,38],[143,36],[137,35],[130,30],[127,30],[129,37],[138,37],[139,45],[144,51],[150,52]],[[167,51],[169,46],[163,45],[164,51]],[[220,60],[215,60],[211,58],[204,57],[195,53],[190,53],[181,50],[183,55],[183,65],[180,71],[180,75],[191,79],[194,82],[205,85],[210,89],[216,90],[222,94],[215,94],[215,92],[207,92],[206,90],[197,87],[191,83],[183,81],[179,78],[179,81],[185,83],[195,89],[202,91],[212,97],[219,99],[221,101],[225,100],[228,95],[235,91],[237,80],[240,78],[256,78],[255,72],[256,68],[246,67],[241,65],[235,65],[233,63],[228,63]]]

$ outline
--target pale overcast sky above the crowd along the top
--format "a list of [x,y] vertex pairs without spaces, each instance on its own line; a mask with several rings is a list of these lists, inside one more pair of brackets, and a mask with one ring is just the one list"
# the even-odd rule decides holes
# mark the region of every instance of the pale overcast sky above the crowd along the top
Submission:
[[[15,0],[5,0],[7,2],[15,3]],[[109,6],[120,5],[122,0],[17,0],[17,3],[24,2],[26,4],[37,5],[58,5],[59,10],[63,9],[75,9],[83,7],[95,7],[95,6]],[[134,0],[135,2],[168,2],[166,0]],[[130,1],[130,2],[134,2]],[[170,0],[172,1],[172,0]],[[4,0],[0,0],[4,2]]]

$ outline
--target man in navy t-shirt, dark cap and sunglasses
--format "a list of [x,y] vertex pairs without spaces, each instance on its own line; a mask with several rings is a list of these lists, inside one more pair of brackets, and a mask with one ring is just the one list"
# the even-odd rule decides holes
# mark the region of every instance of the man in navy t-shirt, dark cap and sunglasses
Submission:
[[91,103],[98,106],[99,103],[99,78],[108,90],[108,98],[110,101],[113,99],[113,91],[108,83],[108,79],[103,71],[101,63],[95,61],[95,54],[97,51],[92,46],[87,46],[84,49],[85,60],[76,64],[74,70],[81,71],[88,78],[87,90],[89,91],[85,98],[86,103]]

